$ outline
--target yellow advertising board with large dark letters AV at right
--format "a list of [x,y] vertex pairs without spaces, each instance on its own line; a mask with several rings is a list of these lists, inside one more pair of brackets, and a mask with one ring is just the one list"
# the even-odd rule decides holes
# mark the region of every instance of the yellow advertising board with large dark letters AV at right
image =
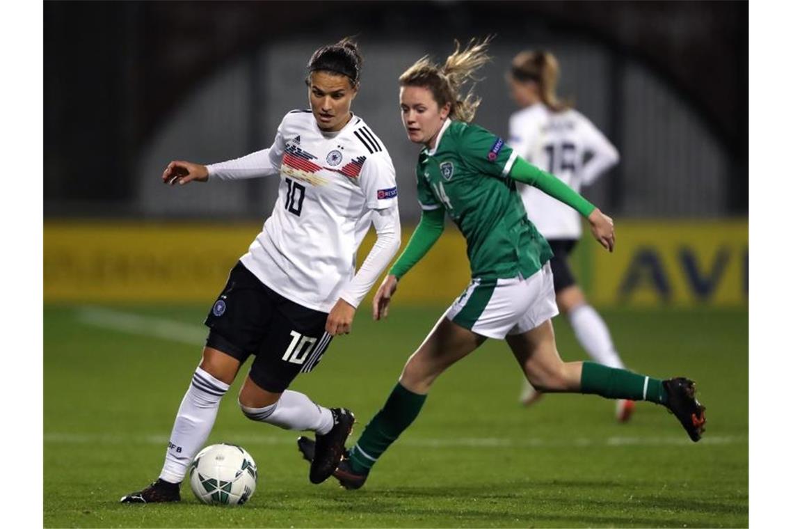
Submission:
[[746,220],[618,223],[613,254],[587,245],[596,305],[746,305]]

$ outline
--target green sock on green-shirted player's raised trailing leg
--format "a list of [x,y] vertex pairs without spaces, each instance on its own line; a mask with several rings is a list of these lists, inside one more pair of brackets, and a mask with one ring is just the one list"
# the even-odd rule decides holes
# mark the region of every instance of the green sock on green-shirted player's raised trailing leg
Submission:
[[666,404],[666,390],[660,379],[595,362],[584,362],[581,368],[581,393],[595,393],[609,399]]

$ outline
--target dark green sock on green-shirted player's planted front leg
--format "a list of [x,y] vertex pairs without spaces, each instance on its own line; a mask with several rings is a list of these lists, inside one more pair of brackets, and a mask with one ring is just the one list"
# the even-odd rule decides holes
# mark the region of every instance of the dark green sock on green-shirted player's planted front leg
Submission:
[[352,471],[368,473],[377,458],[416,419],[426,400],[427,395],[413,393],[397,382],[385,406],[366,424],[358,443],[350,450]]

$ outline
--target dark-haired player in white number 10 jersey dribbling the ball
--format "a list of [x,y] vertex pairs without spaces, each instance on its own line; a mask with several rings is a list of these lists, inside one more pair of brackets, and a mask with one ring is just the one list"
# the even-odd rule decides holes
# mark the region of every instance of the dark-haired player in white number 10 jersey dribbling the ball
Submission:
[[[220,398],[255,355],[239,392],[251,420],[316,432],[309,479],[327,479],[354,417],[287,389],[320,362],[334,335],[350,332],[355,309],[400,246],[397,184],[388,151],[351,113],[362,58],[342,40],[308,62],[310,110],[285,115],[270,148],[203,166],[174,161],[163,181],[184,185],[279,174],[273,213],[239,259],[205,321],[201,363],[178,409],[159,479],[124,503],[179,500],[179,483],[205,443]],[[374,224],[377,242],[355,273],[354,256]]]

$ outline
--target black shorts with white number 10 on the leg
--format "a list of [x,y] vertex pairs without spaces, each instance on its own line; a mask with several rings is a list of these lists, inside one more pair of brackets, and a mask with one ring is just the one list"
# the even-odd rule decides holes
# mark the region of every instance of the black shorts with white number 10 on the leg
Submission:
[[331,342],[327,320],[328,312],[289,301],[237,263],[206,316],[206,345],[240,363],[255,355],[251,380],[282,393],[298,373],[308,373],[320,362]]

